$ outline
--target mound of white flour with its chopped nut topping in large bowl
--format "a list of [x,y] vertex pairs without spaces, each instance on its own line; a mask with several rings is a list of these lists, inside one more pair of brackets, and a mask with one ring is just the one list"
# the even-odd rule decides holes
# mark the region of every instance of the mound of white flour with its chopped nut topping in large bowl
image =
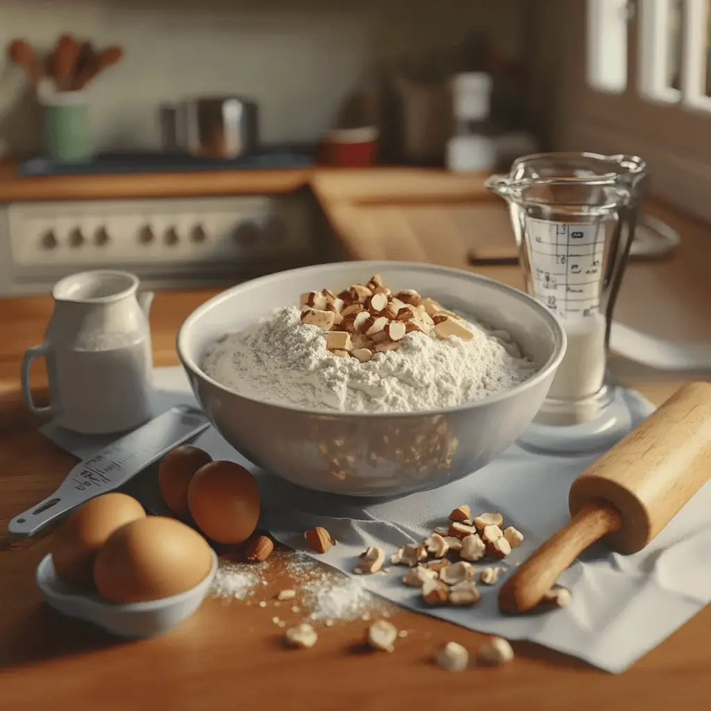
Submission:
[[217,343],[205,373],[247,397],[339,412],[417,412],[481,400],[538,368],[490,330],[376,274],[301,294]]

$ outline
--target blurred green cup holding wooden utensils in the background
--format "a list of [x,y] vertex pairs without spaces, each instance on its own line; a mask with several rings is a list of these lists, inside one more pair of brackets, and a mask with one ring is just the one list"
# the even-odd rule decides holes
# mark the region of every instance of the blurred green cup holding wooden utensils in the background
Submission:
[[56,163],[82,163],[94,157],[89,107],[79,92],[45,100],[45,149]]

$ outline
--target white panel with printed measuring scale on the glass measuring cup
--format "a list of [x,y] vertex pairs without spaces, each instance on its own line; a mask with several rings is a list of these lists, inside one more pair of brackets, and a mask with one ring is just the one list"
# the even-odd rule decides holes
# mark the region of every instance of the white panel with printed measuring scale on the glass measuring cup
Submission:
[[600,224],[567,225],[526,218],[533,292],[559,316],[599,309],[604,240]]

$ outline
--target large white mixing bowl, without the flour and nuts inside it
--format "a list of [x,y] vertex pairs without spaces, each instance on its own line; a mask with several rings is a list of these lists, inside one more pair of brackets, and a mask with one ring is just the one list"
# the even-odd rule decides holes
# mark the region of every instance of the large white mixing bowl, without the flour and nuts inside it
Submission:
[[[298,304],[303,292],[340,292],[372,274],[382,274],[392,289],[417,289],[443,306],[505,328],[540,370],[485,400],[407,414],[274,405],[239,395],[201,370],[205,353],[225,333]],[[272,274],[218,294],[188,316],[177,350],[210,421],[253,464],[317,491],[402,496],[460,479],[501,454],[538,412],[565,345],[565,332],[544,306],[492,279],[427,264],[340,262]],[[414,447],[415,442],[422,444]],[[398,456],[399,449],[410,454]],[[334,465],[335,456],[348,466]]]

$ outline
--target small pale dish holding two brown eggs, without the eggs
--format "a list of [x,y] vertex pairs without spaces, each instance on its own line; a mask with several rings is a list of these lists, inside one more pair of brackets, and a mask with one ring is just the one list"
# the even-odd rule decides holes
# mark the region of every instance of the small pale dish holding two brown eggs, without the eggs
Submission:
[[218,556],[214,550],[210,552],[213,565],[203,581],[185,592],[150,602],[114,604],[96,593],[77,592],[58,578],[50,553],[37,566],[36,582],[43,599],[62,614],[120,637],[153,637],[171,631],[201,606],[218,570]]

